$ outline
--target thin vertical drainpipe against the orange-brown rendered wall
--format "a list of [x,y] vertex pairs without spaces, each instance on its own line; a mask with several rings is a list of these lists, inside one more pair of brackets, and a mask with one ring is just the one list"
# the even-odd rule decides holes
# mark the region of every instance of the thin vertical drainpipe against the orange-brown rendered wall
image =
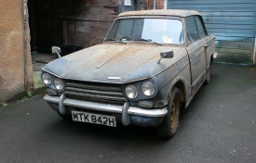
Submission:
[[23,55],[24,55],[24,90],[28,92],[28,52],[27,52],[27,0],[23,0]]

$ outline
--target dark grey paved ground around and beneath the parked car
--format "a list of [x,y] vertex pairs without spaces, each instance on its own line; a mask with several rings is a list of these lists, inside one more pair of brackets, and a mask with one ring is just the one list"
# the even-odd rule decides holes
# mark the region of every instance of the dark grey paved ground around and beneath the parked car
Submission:
[[256,162],[256,69],[214,64],[170,140],[152,128],[67,122],[42,98],[0,108],[0,162]]

